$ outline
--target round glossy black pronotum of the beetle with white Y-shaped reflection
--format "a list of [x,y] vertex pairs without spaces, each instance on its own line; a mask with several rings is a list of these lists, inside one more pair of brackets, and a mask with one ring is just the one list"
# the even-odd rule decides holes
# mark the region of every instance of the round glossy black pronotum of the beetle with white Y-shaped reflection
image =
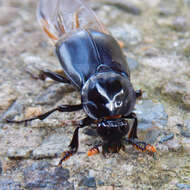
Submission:
[[113,71],[95,73],[82,88],[84,111],[93,119],[128,115],[136,94],[126,75]]

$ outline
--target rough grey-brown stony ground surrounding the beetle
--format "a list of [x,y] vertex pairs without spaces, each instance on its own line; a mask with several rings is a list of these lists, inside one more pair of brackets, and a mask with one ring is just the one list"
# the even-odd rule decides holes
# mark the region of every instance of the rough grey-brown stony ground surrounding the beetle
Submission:
[[83,111],[6,123],[79,104],[80,94],[38,79],[40,70],[61,66],[37,23],[36,1],[1,0],[0,189],[190,189],[190,1],[85,1],[123,42],[133,86],[143,90],[135,107],[138,137],[157,154],[129,145],[119,154],[88,157],[100,140],[89,127],[79,131],[78,153],[58,168]]

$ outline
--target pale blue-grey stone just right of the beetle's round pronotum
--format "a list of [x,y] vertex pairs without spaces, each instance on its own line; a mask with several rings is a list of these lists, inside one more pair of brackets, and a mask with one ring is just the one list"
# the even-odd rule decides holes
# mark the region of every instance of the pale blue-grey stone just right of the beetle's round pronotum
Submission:
[[139,129],[164,128],[167,125],[168,116],[161,103],[144,100],[141,104],[136,105],[135,112],[139,120]]

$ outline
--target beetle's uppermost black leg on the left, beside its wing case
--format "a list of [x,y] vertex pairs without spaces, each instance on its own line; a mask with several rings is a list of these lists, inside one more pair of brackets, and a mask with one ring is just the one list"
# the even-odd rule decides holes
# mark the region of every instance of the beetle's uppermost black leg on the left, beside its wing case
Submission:
[[55,73],[49,70],[41,70],[39,78],[44,80],[45,77],[49,77],[50,79],[55,80],[57,82],[71,84],[67,78],[63,77],[62,75],[58,73]]

